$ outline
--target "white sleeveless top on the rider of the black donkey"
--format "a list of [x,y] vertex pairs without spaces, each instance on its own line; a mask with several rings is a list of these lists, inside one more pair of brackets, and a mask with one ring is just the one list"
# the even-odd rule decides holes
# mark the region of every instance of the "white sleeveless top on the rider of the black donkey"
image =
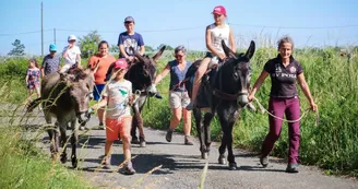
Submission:
[[208,26],[211,31],[212,46],[218,51],[224,52],[222,40],[229,47],[230,26],[225,24],[224,27],[217,27],[215,24]]

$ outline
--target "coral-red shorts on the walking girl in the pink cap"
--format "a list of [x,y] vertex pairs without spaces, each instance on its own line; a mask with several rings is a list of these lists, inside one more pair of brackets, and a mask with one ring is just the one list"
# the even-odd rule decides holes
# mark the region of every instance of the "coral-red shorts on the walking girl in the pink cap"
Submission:
[[106,118],[106,138],[109,141],[118,140],[124,134],[130,137],[132,116],[124,116],[120,119]]

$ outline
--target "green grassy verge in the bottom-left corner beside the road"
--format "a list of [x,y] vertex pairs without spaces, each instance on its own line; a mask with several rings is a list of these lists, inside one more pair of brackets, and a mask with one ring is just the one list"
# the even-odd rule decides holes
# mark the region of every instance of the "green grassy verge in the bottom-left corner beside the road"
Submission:
[[82,178],[21,138],[19,127],[0,129],[0,188],[91,188]]

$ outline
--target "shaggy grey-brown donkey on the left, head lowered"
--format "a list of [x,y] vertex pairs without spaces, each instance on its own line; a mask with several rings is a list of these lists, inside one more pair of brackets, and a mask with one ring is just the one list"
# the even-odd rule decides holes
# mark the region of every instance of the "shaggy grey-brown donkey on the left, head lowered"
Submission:
[[41,97],[32,102],[27,111],[32,111],[37,105],[43,105],[43,111],[47,125],[52,125],[52,117],[57,118],[55,127],[47,129],[51,144],[50,152],[53,160],[59,152],[59,132],[61,135],[62,154],[61,163],[67,162],[67,127],[71,123],[72,166],[77,167],[76,144],[79,141],[79,122],[88,121],[90,99],[93,93],[94,79],[90,69],[72,69],[69,73],[53,72],[44,78],[41,82]]

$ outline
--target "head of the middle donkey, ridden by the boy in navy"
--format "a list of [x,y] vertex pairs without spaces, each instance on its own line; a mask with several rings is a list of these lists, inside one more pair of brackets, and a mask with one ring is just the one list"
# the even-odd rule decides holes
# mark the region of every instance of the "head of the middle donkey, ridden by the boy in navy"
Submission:
[[154,96],[157,91],[152,83],[155,79],[156,73],[156,62],[159,59],[159,57],[163,55],[163,51],[165,50],[166,46],[163,46],[157,54],[155,54],[153,57],[148,56],[141,56],[138,51],[134,51],[135,58],[139,60],[139,62],[135,63],[135,67],[138,67],[138,74],[139,80],[141,81],[141,84],[144,85],[146,88],[146,92]]

